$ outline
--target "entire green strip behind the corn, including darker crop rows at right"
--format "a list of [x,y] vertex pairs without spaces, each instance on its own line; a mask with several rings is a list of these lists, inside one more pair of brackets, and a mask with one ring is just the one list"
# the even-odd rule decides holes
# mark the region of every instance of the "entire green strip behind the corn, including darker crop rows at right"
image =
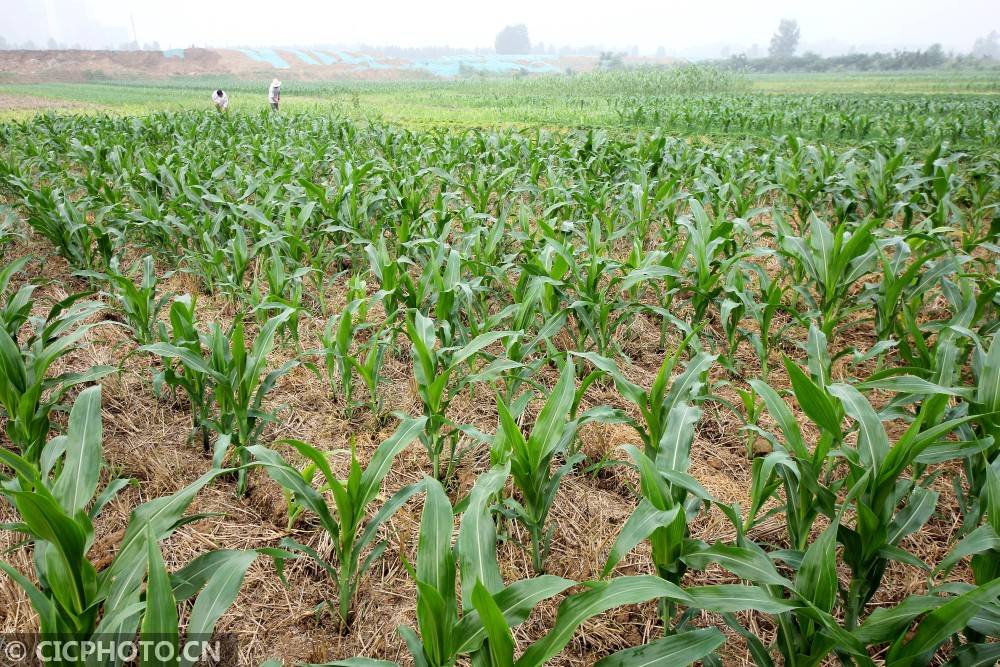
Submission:
[[[715,80],[718,78],[720,80]],[[956,104],[971,107],[969,121],[995,125],[1000,104],[1000,77],[993,72],[912,72],[772,74],[741,77],[717,74],[691,81],[669,74],[607,73],[531,79],[476,79],[434,82],[296,82],[286,81],[283,110],[333,113],[421,127],[605,127],[657,125],[676,132],[709,136],[761,136],[795,133],[807,138],[849,144],[858,139],[905,136],[898,117],[906,114],[951,114]],[[221,86],[231,95],[234,111],[266,107],[267,81],[197,78],[160,82],[93,82],[11,84],[4,95],[33,103],[4,110],[0,120],[23,120],[44,109],[74,113],[141,114],[211,108],[209,91]],[[845,101],[850,108],[843,108]],[[749,104],[748,104],[749,103]],[[938,110],[928,109],[935,105]],[[726,106],[749,109],[742,122],[720,118]],[[623,117],[621,109],[660,109],[660,115]],[[751,108],[752,107],[752,108]],[[863,132],[797,124],[816,111],[839,107],[850,116],[885,117],[893,123]],[[758,118],[776,114],[782,121],[766,126]],[[728,121],[728,122],[727,122]],[[953,144],[978,143],[979,137],[950,137]],[[979,134],[982,134],[980,131]],[[923,139],[924,132],[914,132]],[[938,137],[933,136],[932,139]],[[942,139],[949,139],[942,136]],[[976,141],[965,141],[975,139]]]

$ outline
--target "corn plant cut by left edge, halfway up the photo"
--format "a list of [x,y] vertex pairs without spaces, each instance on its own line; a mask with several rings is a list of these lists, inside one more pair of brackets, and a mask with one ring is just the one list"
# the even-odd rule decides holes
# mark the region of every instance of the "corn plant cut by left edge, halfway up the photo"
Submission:
[[[28,312],[22,304],[30,290],[22,288],[7,303],[13,326],[23,322]],[[93,382],[117,370],[94,366],[82,372],[65,371],[54,377],[49,368],[59,358],[76,349],[77,343],[95,324],[82,324],[103,305],[86,301],[87,294],[75,294],[49,309],[45,318],[29,317],[30,335],[20,344],[7,327],[0,328],[0,406],[6,417],[6,431],[22,457],[37,465],[51,429],[50,416],[73,387]],[[8,314],[9,313],[9,314]]]

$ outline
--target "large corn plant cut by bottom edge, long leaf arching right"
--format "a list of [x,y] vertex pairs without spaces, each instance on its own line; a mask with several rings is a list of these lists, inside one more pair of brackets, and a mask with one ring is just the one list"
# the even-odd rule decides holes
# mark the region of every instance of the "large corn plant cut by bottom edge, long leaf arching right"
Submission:
[[[399,628],[416,665],[452,666],[462,656],[470,654],[474,664],[497,667],[514,664],[510,628],[522,623],[540,601],[558,595],[574,583],[561,577],[541,575],[504,586],[496,565],[496,527],[490,517],[488,499],[500,489],[507,475],[507,467],[500,466],[480,477],[462,513],[454,546],[454,515],[444,488],[434,479],[424,480],[426,496],[417,563],[415,567],[408,566],[410,576],[417,583],[417,630],[406,626]],[[460,577],[456,577],[456,567]],[[460,584],[461,594],[456,591],[456,584]],[[718,611],[759,609],[775,613],[793,606],[768,596],[755,586],[681,589],[657,577],[642,575],[590,582],[586,591],[563,600],[553,627],[531,644],[516,663],[540,667],[562,651],[588,618],[621,605],[662,596]],[[666,660],[674,651],[678,651],[675,657],[680,659],[687,655],[680,652],[682,647],[694,656],[703,657],[720,643],[714,633],[682,633],[676,637],[683,639],[670,638],[670,641],[659,640],[627,649],[609,656],[604,664],[608,667],[649,664],[646,658],[650,655]],[[362,663],[396,664],[367,658],[328,664],[347,667]]]

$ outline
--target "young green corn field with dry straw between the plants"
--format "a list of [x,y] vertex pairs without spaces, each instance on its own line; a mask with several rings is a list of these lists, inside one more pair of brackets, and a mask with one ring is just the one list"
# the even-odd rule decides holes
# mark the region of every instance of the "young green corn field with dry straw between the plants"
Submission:
[[615,104],[0,124],[0,631],[997,664],[996,102]]

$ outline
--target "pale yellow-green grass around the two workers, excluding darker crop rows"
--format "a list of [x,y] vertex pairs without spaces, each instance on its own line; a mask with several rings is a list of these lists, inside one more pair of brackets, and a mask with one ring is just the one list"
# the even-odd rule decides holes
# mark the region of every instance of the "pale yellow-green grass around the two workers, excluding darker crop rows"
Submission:
[[[730,92],[713,84],[681,92],[684,104],[704,94],[750,95],[779,108],[795,106],[799,96],[850,95],[853,99],[886,96],[913,102],[931,96],[947,100],[990,101],[1000,93],[1000,79],[991,72],[758,74],[726,81]],[[152,111],[209,109],[215,87],[230,92],[234,110],[257,111],[267,105],[267,81],[219,80],[210,77],[164,81],[95,81],[88,83],[11,84],[10,97],[31,98],[64,106],[74,113],[143,114]],[[291,112],[334,113],[362,120],[379,120],[411,128],[424,127],[607,127],[622,125],[616,100],[640,100],[671,94],[672,82],[655,75],[640,77],[608,73],[600,76],[537,77],[532,79],[468,79],[410,82],[296,82],[284,83],[282,107]],[[701,84],[705,86],[706,84]],[[37,106],[37,105],[36,105]],[[0,106],[0,120],[24,120],[37,108]],[[680,129],[680,128],[677,128]],[[684,128],[688,129],[688,128]],[[755,136],[756,131],[701,128],[711,136]],[[766,134],[766,133],[765,133]]]

